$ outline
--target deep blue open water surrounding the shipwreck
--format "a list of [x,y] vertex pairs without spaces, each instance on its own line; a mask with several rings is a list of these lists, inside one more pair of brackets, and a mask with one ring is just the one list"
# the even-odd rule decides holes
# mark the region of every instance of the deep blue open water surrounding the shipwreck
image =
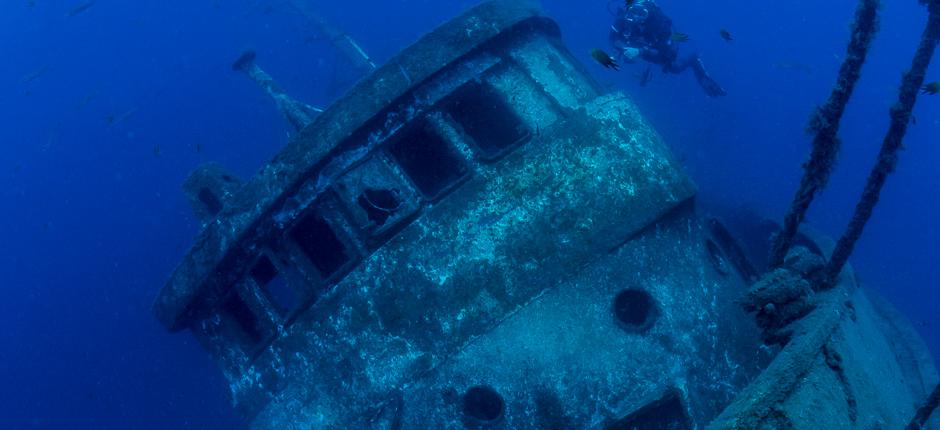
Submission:
[[[310,1],[379,62],[475,3]],[[544,1],[575,55],[634,97],[704,196],[781,218],[854,2],[660,1],[692,37],[683,49],[698,50],[728,90],[722,99],[706,98],[691,75],[640,87],[645,66],[590,63],[611,16],[603,1],[586,3]],[[915,0],[886,3],[838,169],[809,215],[831,235],[849,218],[926,21]],[[353,72],[286,2],[99,0],[67,17],[78,4],[0,2],[0,428],[242,428],[208,356],[150,315],[197,233],[180,184],[210,160],[248,177],[286,142],[273,104],[230,70],[243,49],[315,105]],[[915,115],[852,262],[940,353],[940,96],[922,97]]]

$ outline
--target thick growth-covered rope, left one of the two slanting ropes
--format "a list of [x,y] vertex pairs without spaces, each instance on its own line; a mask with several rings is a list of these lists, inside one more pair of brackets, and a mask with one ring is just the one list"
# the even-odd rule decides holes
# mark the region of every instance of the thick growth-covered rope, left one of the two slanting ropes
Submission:
[[839,153],[839,122],[845,105],[852,96],[861,74],[862,65],[868,56],[868,48],[878,30],[879,0],[859,0],[852,25],[852,40],[846,49],[845,60],[839,68],[839,77],[829,100],[816,109],[810,119],[809,130],[816,133],[809,160],[803,164],[803,179],[793,197],[790,210],[783,222],[783,229],[774,240],[770,253],[770,267],[780,267],[790,249],[797,229],[806,217],[806,210],[816,192],[826,186]]

